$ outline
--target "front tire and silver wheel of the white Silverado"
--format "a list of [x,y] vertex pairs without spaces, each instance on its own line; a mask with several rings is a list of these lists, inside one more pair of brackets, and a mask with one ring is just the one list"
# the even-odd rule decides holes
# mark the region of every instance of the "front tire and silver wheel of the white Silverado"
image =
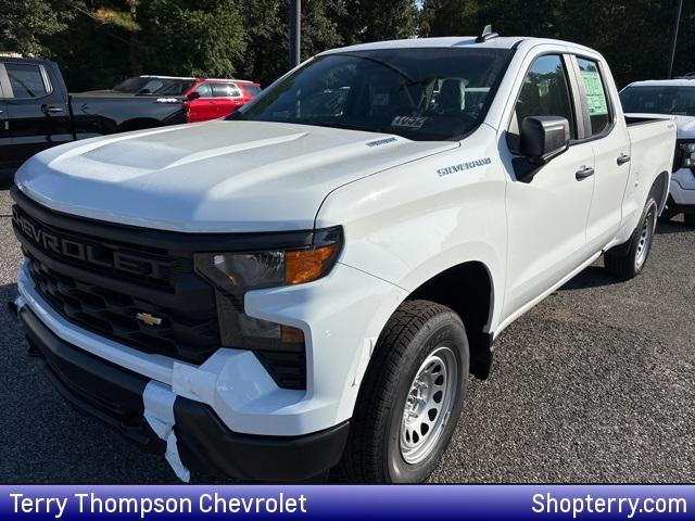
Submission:
[[451,441],[468,373],[458,315],[429,301],[402,304],[363,380],[341,473],[356,483],[425,481]]

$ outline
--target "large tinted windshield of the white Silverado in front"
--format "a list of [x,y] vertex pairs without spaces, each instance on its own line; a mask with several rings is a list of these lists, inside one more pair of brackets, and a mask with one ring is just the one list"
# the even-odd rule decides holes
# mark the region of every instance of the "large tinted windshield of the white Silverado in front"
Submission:
[[228,119],[457,139],[482,122],[511,51],[416,48],[319,56]]

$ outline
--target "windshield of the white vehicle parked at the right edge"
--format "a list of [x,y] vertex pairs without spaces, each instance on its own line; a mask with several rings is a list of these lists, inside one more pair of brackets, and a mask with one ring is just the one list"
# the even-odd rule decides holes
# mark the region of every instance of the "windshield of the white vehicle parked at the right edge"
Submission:
[[695,116],[693,87],[628,87],[620,92],[624,112]]

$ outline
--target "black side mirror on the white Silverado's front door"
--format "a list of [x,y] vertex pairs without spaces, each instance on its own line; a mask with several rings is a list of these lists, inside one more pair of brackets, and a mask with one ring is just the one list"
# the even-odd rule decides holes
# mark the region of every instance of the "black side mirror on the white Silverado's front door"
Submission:
[[544,164],[569,147],[569,122],[559,116],[529,116],[521,122],[519,152]]

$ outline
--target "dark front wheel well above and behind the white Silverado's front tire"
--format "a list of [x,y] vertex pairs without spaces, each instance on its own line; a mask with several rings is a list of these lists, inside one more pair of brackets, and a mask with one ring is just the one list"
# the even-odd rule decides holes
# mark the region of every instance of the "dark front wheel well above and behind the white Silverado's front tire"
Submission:
[[466,327],[470,372],[488,378],[492,365],[492,334],[484,331],[493,305],[493,287],[484,264],[470,262],[442,271],[415,290],[408,298],[422,298],[452,308]]

